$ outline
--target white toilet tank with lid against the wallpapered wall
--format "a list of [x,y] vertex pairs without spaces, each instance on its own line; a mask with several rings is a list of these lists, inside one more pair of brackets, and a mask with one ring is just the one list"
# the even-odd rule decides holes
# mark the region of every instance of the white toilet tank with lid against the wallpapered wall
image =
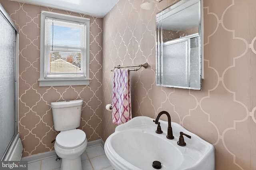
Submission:
[[52,102],[52,117],[56,131],[70,130],[80,126],[82,100]]

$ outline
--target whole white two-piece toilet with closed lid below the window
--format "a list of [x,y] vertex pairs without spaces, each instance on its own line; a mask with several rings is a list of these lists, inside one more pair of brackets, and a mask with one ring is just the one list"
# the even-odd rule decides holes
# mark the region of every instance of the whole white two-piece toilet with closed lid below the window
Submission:
[[61,170],[82,170],[81,155],[87,146],[86,134],[80,129],[82,100],[52,102],[56,136],[54,149],[62,158]]

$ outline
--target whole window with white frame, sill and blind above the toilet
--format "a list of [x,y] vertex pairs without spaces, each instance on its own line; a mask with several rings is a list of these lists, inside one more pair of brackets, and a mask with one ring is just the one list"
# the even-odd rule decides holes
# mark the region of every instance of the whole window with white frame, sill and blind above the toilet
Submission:
[[90,19],[41,12],[39,86],[88,85]]

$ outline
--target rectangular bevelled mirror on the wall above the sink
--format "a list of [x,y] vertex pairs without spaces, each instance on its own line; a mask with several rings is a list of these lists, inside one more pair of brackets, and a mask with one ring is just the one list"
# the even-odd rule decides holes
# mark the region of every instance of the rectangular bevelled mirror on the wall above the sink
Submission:
[[156,14],[156,85],[201,90],[201,1],[180,0]]

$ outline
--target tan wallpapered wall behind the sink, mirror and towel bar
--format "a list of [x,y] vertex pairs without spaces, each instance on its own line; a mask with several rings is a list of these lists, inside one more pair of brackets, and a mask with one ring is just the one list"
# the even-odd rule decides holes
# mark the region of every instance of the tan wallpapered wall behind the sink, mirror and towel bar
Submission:
[[[155,118],[168,111],[172,121],[214,145],[216,170],[256,169],[256,0],[204,0],[202,91],[156,86],[155,14],[142,0],[119,0],[103,20],[103,100],[111,103],[115,65],[142,64],[131,72],[132,114]],[[114,132],[103,111],[103,139]]]

